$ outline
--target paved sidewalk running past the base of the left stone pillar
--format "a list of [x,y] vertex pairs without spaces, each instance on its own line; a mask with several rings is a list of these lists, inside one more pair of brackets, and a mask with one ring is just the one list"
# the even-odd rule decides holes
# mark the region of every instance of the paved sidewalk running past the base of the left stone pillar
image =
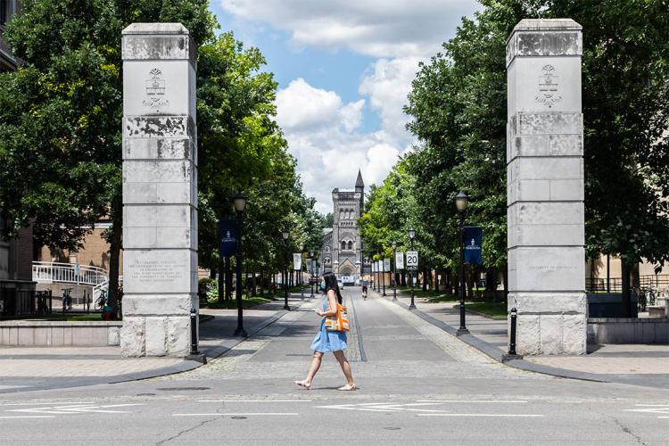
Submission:
[[[310,293],[289,297],[292,309],[309,301]],[[249,336],[285,315],[284,301],[272,301],[244,310]],[[226,353],[244,339],[233,336],[237,310],[207,310],[213,319],[200,326],[199,350],[207,358]],[[202,366],[181,358],[122,358],[120,347],[0,347],[0,393],[62,389],[112,384],[171,375]]]

